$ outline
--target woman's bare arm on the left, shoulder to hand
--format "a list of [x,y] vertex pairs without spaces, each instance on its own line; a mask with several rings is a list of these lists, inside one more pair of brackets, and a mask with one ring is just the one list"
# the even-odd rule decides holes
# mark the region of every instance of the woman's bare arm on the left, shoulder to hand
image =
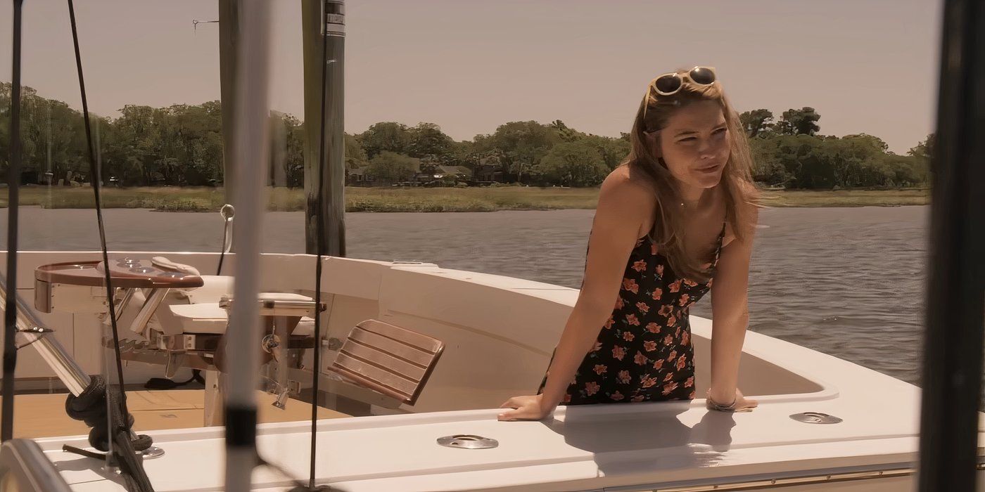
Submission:
[[[535,418],[551,413],[563,400],[575,371],[609,320],[623,284],[629,254],[641,226],[650,220],[654,202],[651,191],[629,181],[623,172],[610,174],[602,183],[588,238],[585,278],[548,369],[540,398],[542,415]],[[649,230],[649,225],[642,228]],[[520,399],[507,400],[503,406],[517,408],[526,401]],[[514,400],[519,403],[510,404]],[[506,411],[500,419],[524,418],[528,412],[529,409],[523,411],[523,408]]]

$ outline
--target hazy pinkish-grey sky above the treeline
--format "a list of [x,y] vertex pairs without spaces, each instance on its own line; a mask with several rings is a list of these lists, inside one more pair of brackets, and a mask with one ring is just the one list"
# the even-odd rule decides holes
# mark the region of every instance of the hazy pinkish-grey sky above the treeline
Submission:
[[[24,84],[80,107],[64,0],[25,2]],[[215,0],[79,0],[93,111],[219,98]],[[0,9],[10,80],[11,7]],[[813,106],[821,133],[904,153],[933,130],[937,0],[350,0],[346,131],[438,124],[457,140],[507,121],[627,131],[656,75],[710,65],[739,111]],[[302,116],[298,0],[276,0],[275,109]]]

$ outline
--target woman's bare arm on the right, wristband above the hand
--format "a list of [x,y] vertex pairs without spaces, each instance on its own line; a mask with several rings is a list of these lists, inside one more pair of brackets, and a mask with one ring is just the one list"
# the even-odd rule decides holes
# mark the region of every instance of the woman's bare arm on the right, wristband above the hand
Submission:
[[749,263],[753,254],[755,209],[752,226],[744,237],[735,237],[722,247],[711,283],[711,385],[709,396],[716,403],[744,400],[738,391],[739,360],[749,326]]

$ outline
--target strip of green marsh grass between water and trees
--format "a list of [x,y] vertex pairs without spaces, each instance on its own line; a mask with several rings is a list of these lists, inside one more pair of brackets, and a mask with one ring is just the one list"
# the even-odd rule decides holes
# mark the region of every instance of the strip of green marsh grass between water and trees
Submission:
[[[346,188],[347,212],[493,212],[502,210],[594,209],[597,188]],[[269,210],[304,209],[304,192],[267,189]],[[895,207],[927,205],[928,190],[777,191],[762,193],[769,207]],[[166,212],[215,212],[224,194],[217,188],[103,188],[107,209],[154,209]],[[21,188],[21,204],[47,209],[91,209],[91,188]],[[0,207],[7,207],[0,190]]]

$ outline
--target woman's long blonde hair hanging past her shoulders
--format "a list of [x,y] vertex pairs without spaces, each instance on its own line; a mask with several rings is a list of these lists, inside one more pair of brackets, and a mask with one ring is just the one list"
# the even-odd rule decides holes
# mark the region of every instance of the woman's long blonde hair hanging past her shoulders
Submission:
[[[678,70],[682,76],[687,72]],[[653,240],[678,276],[695,280],[707,280],[709,272],[701,268],[703,262],[690,258],[685,250],[683,211],[673,206],[681,203],[676,180],[663,159],[656,158],[648,148],[644,132],[659,132],[667,127],[671,116],[677,111],[694,102],[709,100],[721,106],[731,140],[731,152],[719,183],[725,185],[722,191],[726,220],[732,225],[737,238],[744,239],[753,226],[753,217],[750,216],[752,208],[748,205],[755,205],[758,199],[752,177],[753,157],[739,115],[719,82],[706,86],[684,82],[681,90],[671,95],[654,92],[651,84],[639,104],[629,132],[629,154],[620,163],[629,166],[630,175],[640,175],[651,182],[657,198]]]

